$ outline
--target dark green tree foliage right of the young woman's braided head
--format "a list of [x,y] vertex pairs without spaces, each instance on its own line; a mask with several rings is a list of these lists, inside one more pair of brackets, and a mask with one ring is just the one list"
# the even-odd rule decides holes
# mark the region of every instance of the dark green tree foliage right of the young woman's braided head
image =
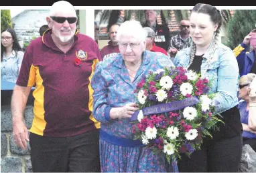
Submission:
[[227,24],[228,39],[225,45],[234,49],[253,29],[256,23],[256,10],[236,10]]

